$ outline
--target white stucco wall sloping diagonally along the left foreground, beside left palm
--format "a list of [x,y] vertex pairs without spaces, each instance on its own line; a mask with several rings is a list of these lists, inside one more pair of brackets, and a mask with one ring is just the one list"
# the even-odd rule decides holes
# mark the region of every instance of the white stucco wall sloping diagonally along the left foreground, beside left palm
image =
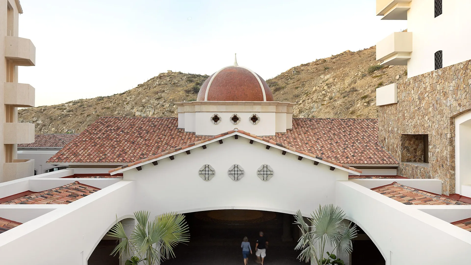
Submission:
[[[55,261],[87,264],[93,249],[116,219],[132,216],[134,191],[134,182],[118,182],[1,233],[2,264],[50,265]],[[34,248],[28,248],[27,255],[18,252],[31,244]]]

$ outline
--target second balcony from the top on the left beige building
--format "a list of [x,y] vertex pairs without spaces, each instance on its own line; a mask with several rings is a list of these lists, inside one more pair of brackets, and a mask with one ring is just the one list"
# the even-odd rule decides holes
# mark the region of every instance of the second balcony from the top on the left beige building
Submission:
[[34,87],[30,84],[5,83],[5,104],[13,107],[34,107]]

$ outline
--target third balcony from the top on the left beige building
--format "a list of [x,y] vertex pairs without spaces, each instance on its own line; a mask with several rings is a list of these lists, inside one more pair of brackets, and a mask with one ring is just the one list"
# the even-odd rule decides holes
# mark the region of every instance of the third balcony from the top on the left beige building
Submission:
[[3,143],[32,143],[34,142],[34,124],[32,123],[3,123]]

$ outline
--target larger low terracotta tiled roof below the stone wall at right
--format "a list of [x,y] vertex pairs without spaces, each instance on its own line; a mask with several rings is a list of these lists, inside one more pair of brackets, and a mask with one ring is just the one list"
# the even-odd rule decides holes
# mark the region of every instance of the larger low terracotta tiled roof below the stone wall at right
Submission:
[[465,202],[450,199],[446,195],[417,190],[401,185],[398,182],[392,182],[389,185],[373,188],[371,190],[407,205],[467,205]]

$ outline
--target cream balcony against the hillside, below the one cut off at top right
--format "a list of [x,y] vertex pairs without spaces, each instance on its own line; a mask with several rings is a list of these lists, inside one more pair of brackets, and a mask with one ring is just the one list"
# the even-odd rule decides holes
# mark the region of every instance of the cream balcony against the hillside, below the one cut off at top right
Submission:
[[382,66],[406,66],[411,52],[412,32],[395,32],[376,43],[376,60]]

